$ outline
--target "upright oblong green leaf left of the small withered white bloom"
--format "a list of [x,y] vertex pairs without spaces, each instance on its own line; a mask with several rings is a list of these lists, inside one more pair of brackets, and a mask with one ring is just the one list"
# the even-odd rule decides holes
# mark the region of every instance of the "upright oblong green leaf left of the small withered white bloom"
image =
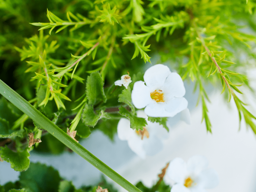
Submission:
[[86,95],[89,100],[89,104],[91,105],[94,105],[96,102],[101,100],[103,100],[104,103],[107,101],[103,90],[103,81],[98,71],[93,72],[87,77]]

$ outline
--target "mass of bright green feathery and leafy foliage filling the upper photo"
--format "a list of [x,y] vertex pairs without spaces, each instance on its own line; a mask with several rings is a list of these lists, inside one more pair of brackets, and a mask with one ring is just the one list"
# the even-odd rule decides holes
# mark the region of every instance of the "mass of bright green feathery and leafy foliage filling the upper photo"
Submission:
[[[142,130],[147,123],[136,116],[131,92],[133,84],[143,80],[139,71],[144,62],[157,52],[161,62],[173,61],[171,68],[184,81],[195,82],[207,131],[212,132],[212,126],[205,84],[211,83],[222,89],[227,101],[235,100],[240,122],[243,117],[256,134],[256,117],[239,99],[240,86],[251,89],[246,68],[252,65],[237,57],[244,52],[256,59],[251,51],[255,0],[36,2],[0,0],[0,76],[63,131],[69,128],[86,138],[98,129],[113,140],[122,117],[130,119],[132,129]],[[246,26],[254,34],[242,32]],[[128,89],[115,86],[127,71],[132,77]],[[36,144],[37,151],[58,154],[65,149],[4,98],[0,110],[0,156],[14,170],[28,169],[34,148],[28,148],[29,132],[43,141]],[[148,120],[168,130],[167,118]]]

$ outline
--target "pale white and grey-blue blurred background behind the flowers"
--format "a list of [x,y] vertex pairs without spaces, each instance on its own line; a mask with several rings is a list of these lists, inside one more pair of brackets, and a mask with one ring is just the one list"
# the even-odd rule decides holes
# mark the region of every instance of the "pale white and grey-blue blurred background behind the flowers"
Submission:
[[[157,63],[158,58],[152,62]],[[168,63],[166,63],[168,65]],[[149,66],[148,66],[149,67]],[[148,68],[147,67],[147,68]],[[169,65],[170,67],[170,65]],[[248,72],[251,85],[256,90],[256,70]],[[212,123],[212,134],[206,132],[204,122],[201,123],[201,104],[196,107],[197,93],[193,93],[193,84],[186,84],[185,98],[191,113],[191,124],[179,121],[179,116],[171,118],[170,137],[164,143],[164,149],[155,156],[141,159],[117,135],[112,143],[99,131],[93,132],[88,139],[80,142],[104,163],[121,174],[132,184],[142,181],[151,187],[157,180],[161,169],[175,157],[185,161],[193,155],[204,155],[209,160],[209,167],[219,173],[218,187],[209,192],[255,192],[256,191],[256,138],[251,129],[247,129],[242,121],[238,131],[239,118],[235,103],[231,100],[229,107],[224,103],[219,91],[209,87],[212,103],[208,103],[209,116]],[[245,91],[247,102],[251,104],[251,111],[255,114],[256,98]],[[251,95],[251,96],[250,96]],[[44,155],[30,153],[32,162],[52,165],[60,172],[60,176],[72,180],[76,187],[97,184],[101,172],[75,153],[64,152],[62,155]],[[15,172],[7,162],[0,162],[0,184],[18,179],[19,172]],[[171,182],[165,176],[166,182]],[[120,191],[123,188],[115,184]]]

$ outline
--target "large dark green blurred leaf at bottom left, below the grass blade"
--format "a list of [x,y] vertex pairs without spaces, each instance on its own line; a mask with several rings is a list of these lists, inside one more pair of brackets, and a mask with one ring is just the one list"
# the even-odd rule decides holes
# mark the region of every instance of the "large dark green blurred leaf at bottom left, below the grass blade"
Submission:
[[61,180],[59,172],[45,164],[32,163],[26,172],[20,173],[21,187],[30,191],[58,191]]

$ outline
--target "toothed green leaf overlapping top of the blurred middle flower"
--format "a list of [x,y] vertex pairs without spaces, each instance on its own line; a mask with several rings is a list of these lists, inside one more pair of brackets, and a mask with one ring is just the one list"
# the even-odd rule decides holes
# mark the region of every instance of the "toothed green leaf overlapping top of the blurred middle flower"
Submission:
[[129,111],[127,111],[122,106],[119,108],[119,113],[122,116],[125,116],[130,119],[132,129],[136,129],[137,131],[143,130],[143,127],[147,125],[147,121],[144,118],[140,118],[135,115],[132,115]]

